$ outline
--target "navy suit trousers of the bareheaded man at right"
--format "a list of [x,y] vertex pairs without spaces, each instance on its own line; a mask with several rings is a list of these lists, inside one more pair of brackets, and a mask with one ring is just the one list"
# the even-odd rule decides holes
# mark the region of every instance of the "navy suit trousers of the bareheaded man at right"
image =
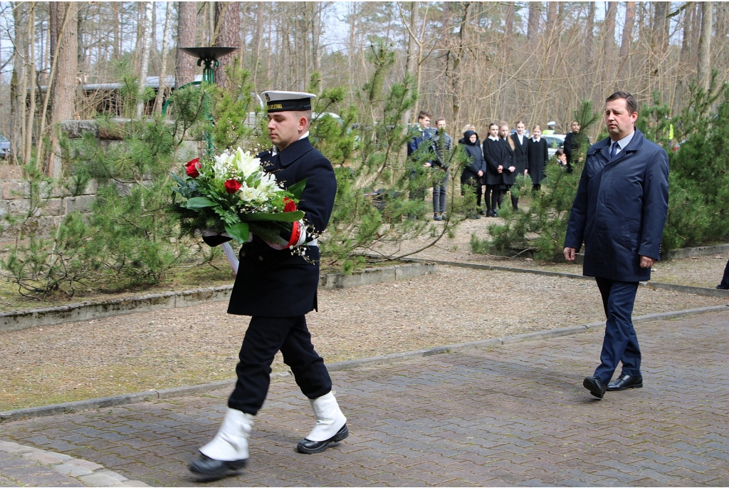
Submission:
[[595,370],[594,376],[598,376],[608,384],[619,362],[623,363],[622,374],[641,376],[640,348],[631,319],[638,282],[617,282],[599,277],[596,277],[595,281],[602,295],[607,321],[600,365]]

